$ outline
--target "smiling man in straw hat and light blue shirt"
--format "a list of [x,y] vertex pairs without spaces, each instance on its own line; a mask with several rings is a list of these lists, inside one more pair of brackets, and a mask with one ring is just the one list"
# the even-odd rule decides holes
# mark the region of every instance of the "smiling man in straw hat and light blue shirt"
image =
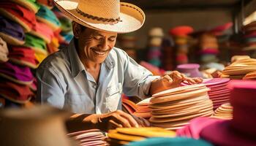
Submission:
[[121,111],[121,93],[143,99],[184,80],[201,82],[179,72],[154,77],[114,47],[118,33],[135,31],[143,25],[145,15],[135,5],[116,0],[55,3],[74,20],[74,39],[40,64],[37,100],[77,113],[71,116],[73,126],[83,124],[84,128],[102,130],[137,127],[138,122]]

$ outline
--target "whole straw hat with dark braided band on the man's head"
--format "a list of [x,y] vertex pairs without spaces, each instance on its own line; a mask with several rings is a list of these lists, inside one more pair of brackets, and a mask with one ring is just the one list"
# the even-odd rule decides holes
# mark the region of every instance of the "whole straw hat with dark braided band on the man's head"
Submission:
[[75,22],[99,31],[132,32],[145,21],[142,9],[119,0],[54,0],[54,3]]

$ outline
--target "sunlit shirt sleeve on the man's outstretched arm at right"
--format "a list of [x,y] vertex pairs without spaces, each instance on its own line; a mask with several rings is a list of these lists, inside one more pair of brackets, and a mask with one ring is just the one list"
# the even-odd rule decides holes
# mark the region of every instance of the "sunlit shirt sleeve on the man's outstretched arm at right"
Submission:
[[130,58],[127,53],[124,53],[124,58],[123,92],[127,96],[138,96],[140,99],[147,98],[150,96],[148,92],[151,82],[159,76],[153,76],[146,68]]

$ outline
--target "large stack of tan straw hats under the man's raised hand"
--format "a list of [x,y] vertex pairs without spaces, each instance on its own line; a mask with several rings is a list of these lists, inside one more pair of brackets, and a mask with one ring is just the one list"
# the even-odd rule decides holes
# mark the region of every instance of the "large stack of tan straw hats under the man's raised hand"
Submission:
[[187,85],[156,93],[151,98],[151,126],[176,130],[196,117],[213,113],[213,104],[205,85]]

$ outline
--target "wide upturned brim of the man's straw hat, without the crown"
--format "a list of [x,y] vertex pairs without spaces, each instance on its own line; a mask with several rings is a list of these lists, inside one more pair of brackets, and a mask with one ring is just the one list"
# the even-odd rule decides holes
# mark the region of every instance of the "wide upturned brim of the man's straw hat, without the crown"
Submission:
[[109,24],[80,15],[76,11],[76,8],[78,7],[78,0],[54,0],[54,3],[61,12],[64,12],[67,17],[71,18],[75,22],[99,31],[116,32],[118,34],[128,33],[138,30],[145,22],[145,14],[143,10],[134,4],[121,2],[119,15],[121,22]]

